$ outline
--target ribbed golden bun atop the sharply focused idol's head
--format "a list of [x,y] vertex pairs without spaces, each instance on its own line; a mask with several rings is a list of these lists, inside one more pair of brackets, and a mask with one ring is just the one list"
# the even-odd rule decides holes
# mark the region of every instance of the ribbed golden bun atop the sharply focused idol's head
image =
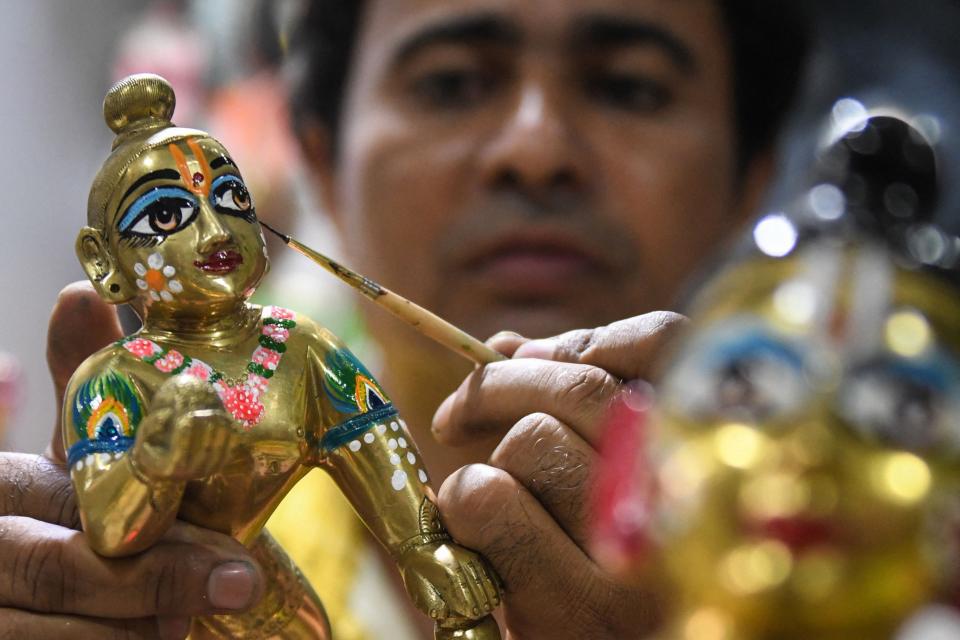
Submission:
[[110,87],[103,100],[103,119],[118,136],[169,127],[176,104],[169,82],[153,73],[138,73]]

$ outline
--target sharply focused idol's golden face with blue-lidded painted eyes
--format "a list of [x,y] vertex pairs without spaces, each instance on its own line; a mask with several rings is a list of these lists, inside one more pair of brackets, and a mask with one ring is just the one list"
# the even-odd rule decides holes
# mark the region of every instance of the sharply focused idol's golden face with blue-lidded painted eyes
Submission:
[[180,139],[141,154],[107,211],[110,250],[148,308],[246,299],[267,269],[250,193],[211,138]]

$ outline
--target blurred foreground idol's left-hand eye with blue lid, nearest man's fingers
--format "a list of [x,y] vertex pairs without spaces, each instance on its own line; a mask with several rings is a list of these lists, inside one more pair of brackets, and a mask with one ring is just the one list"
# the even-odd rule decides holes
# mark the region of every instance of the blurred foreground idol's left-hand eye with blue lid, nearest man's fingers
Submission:
[[695,338],[664,384],[671,411],[712,423],[780,423],[809,395],[798,345],[740,319]]

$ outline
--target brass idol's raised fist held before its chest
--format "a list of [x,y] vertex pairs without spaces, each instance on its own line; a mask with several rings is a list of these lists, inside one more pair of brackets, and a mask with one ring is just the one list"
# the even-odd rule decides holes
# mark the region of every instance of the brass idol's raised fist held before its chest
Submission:
[[157,390],[137,430],[134,468],[153,481],[205,478],[223,466],[238,438],[213,388],[176,376]]

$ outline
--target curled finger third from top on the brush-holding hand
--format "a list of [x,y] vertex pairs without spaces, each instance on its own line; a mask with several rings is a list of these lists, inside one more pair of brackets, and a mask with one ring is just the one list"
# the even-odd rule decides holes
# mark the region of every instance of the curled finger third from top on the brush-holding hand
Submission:
[[534,413],[513,426],[490,464],[516,478],[581,549],[590,535],[589,482],[597,453],[553,416]]

